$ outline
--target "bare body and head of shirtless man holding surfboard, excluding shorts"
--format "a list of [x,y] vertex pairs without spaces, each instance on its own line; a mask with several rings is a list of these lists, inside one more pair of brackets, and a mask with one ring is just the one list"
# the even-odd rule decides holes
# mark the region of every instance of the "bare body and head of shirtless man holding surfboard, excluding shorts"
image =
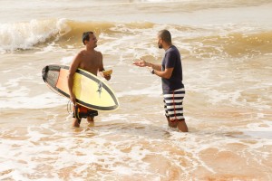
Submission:
[[[71,63],[69,74],[68,74],[68,87],[70,92],[70,100],[73,102],[73,105],[76,104],[75,95],[73,93],[73,75],[78,68],[81,68],[85,71],[89,71],[92,74],[97,76],[98,71],[102,77],[107,81],[111,79],[111,75],[104,76],[102,71],[104,71],[103,62],[102,62],[102,52],[97,52],[94,50],[97,47],[97,39],[94,33],[85,32],[83,33],[83,44],[85,49],[79,52],[73,59]],[[93,122],[93,116],[88,116],[87,120],[89,123]],[[73,127],[80,126],[80,119],[73,119]]]

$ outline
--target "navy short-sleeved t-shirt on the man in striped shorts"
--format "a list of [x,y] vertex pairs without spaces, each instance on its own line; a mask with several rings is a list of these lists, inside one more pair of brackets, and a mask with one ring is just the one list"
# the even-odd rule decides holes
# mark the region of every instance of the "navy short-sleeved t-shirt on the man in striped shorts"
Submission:
[[162,90],[172,91],[184,88],[182,83],[182,66],[180,59],[180,52],[174,45],[165,52],[164,58],[161,62],[161,71],[168,68],[174,68],[170,79],[161,78]]

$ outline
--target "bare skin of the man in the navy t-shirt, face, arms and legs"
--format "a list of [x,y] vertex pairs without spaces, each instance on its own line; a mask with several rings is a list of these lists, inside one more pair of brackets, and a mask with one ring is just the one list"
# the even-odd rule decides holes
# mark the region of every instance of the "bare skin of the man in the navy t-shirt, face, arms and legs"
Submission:
[[[160,36],[158,36],[158,46],[159,48],[163,48],[165,51],[170,48],[172,43],[167,43],[163,41]],[[139,67],[149,67],[150,70],[154,70],[154,74],[161,78],[170,79],[172,72],[174,68],[166,68],[164,71],[161,71],[161,65],[160,64],[154,64],[151,62],[145,62],[144,60],[140,59],[137,62],[133,62],[134,65]],[[182,120],[170,120],[167,118],[168,124],[171,128],[177,128],[180,129],[182,132],[188,132],[188,127],[186,125],[185,119]]]

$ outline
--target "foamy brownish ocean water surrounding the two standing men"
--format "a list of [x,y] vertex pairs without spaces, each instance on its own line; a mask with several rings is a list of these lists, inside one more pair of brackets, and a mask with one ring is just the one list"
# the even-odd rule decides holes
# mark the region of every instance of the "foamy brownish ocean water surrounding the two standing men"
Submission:
[[[269,0],[0,1],[0,180],[272,180]],[[164,118],[169,29],[182,56],[189,133]],[[121,106],[73,128],[68,99],[42,79],[96,33]]]

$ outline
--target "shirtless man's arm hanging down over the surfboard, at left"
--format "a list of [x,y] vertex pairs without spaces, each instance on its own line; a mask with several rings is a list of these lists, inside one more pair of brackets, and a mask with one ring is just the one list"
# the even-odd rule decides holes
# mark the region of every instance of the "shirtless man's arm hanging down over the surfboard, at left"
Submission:
[[73,62],[70,65],[70,69],[68,72],[68,88],[69,88],[69,93],[70,93],[70,100],[73,102],[73,104],[75,104],[75,95],[73,93],[73,75],[75,73],[75,71],[77,70],[77,68],[79,67],[80,64],[80,53],[78,53],[74,59]]

